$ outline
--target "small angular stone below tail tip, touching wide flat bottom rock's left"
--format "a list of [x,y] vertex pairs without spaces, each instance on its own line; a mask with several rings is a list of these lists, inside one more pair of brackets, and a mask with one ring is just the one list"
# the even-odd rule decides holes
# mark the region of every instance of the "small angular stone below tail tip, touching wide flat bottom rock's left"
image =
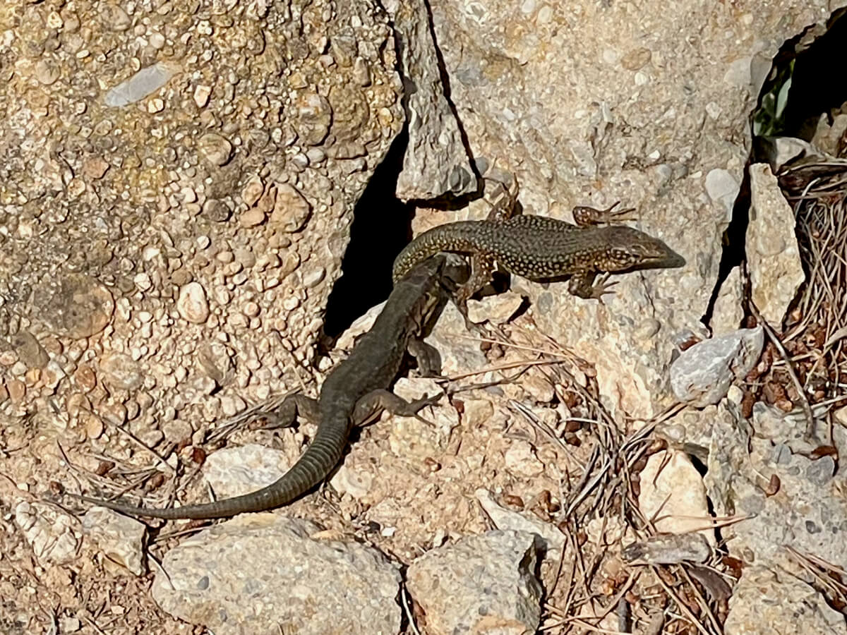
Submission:
[[136,576],[144,573],[144,536],[147,526],[105,507],[91,507],[82,516],[82,531],[102,552],[102,564],[117,563]]

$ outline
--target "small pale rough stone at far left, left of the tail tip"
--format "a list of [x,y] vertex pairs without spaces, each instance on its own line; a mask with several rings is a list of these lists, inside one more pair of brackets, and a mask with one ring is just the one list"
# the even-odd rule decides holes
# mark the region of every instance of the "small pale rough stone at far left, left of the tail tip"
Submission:
[[22,502],[14,507],[14,522],[42,564],[60,565],[76,560],[80,537],[67,514],[49,505]]

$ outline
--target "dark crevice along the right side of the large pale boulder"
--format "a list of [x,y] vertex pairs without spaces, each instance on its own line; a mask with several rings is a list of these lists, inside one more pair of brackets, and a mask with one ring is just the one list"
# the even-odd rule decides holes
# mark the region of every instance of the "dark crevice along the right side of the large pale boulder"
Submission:
[[[800,53],[795,48],[800,45],[803,34],[783,44],[773,58],[773,65],[767,80],[761,88],[756,109],[750,113],[750,123],[763,108],[765,97],[778,91],[785,80],[791,78],[788,100],[778,120],[771,122],[770,136],[754,136],[752,151],[744,169],[744,181],[739,195],[735,199],[733,218],[723,235],[723,250],[718,269],[717,282],[711,293],[703,323],[708,324],[714,312],[715,301],[721,285],[733,268],[745,260],[745,235],[750,220],[750,176],[751,163],[767,163],[772,156],[772,137],[790,136],[811,139],[822,113],[832,108],[840,108],[847,102],[847,84],[838,79],[833,63],[844,58],[844,42],[847,42],[847,13],[840,10],[829,20],[828,31],[818,37],[811,46]],[[791,64],[794,68],[791,69]]]

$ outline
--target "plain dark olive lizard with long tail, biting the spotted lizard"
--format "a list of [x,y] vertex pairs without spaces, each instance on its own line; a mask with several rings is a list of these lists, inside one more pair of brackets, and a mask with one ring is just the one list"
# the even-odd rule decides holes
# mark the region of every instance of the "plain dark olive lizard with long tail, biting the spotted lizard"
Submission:
[[329,373],[317,400],[288,395],[272,414],[273,428],[291,425],[298,415],[318,421],[312,443],[291,469],[263,489],[232,498],[175,508],[144,508],[113,500],[80,496],[86,502],[134,516],[219,518],[285,505],[322,481],[338,464],[353,425],[368,422],[383,410],[417,417],[435,399],[408,402],[390,392],[408,350],[424,373],[437,374],[437,351],[421,338],[450,293],[468,279],[461,258],[438,255],[419,262],[391,290],[374,326],[349,356]]

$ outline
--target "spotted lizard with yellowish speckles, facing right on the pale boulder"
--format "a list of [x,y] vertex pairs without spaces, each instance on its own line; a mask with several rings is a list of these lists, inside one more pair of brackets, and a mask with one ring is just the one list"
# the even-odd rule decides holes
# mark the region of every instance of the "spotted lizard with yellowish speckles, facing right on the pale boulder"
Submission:
[[[504,196],[514,205],[517,195]],[[468,283],[458,291],[457,300],[466,301],[490,277],[496,260],[509,273],[535,281],[570,275],[568,290],[584,299],[598,299],[614,282],[594,284],[598,273],[626,272],[641,268],[683,267],[684,257],[662,240],[638,229],[610,223],[632,212],[612,212],[574,207],[576,224],[546,216],[511,216],[503,202],[484,220],[446,223],[425,231],[412,240],[394,261],[392,278],[401,279],[417,262],[439,251],[472,256]],[[511,218],[510,218],[511,216]]]

